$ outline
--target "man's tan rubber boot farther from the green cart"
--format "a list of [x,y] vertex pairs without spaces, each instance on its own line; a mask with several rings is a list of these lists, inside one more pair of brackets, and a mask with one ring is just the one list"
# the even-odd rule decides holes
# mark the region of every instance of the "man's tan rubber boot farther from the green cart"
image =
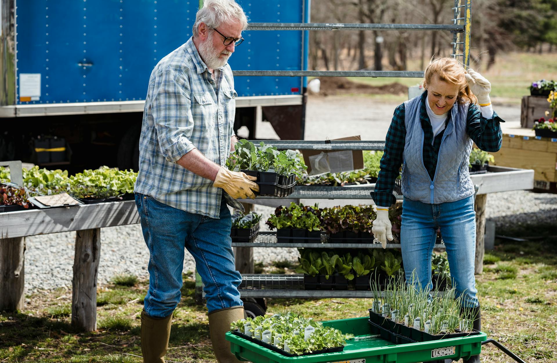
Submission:
[[141,354],[143,363],[164,363],[167,354],[172,314],[154,318],[141,311]]

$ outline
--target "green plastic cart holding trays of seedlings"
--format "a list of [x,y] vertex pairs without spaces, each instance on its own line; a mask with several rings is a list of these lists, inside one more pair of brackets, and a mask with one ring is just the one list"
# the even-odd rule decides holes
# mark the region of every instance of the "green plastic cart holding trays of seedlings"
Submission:
[[353,334],[344,351],[289,357],[262,347],[251,341],[226,333],[231,351],[239,360],[253,363],[417,363],[458,360],[480,354],[485,333],[460,338],[395,345],[382,339],[368,317],[324,321],[343,333]]

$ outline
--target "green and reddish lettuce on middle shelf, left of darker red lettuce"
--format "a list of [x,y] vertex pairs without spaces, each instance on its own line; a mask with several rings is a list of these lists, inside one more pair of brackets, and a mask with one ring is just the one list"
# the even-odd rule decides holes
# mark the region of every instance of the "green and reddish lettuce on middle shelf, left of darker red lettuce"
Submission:
[[307,230],[321,230],[321,210],[302,203],[290,203],[290,207],[277,207],[275,214],[267,219],[266,224],[271,230],[274,228],[303,228]]

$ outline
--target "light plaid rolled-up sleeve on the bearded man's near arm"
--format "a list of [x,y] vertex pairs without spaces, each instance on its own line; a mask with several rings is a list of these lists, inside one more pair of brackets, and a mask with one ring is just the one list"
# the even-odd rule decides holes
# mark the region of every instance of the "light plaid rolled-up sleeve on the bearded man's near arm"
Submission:
[[189,140],[194,122],[190,87],[183,74],[168,68],[160,72],[155,81],[150,107],[160,153],[165,159],[175,163],[195,149]]

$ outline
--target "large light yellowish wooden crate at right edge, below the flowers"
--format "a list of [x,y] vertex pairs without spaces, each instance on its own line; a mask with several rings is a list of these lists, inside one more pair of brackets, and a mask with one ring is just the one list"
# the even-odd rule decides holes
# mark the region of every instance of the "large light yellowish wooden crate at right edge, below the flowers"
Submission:
[[492,153],[495,165],[534,169],[535,180],[557,181],[557,142],[536,139],[533,131],[525,131],[528,135],[503,134],[501,150]]

